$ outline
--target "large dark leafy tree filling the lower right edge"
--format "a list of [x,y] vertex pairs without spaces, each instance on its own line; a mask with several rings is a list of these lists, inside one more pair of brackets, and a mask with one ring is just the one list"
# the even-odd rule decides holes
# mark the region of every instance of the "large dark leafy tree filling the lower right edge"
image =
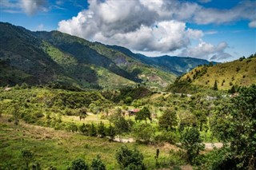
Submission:
[[231,100],[226,136],[230,142],[229,157],[236,169],[256,169],[256,85],[242,88]]

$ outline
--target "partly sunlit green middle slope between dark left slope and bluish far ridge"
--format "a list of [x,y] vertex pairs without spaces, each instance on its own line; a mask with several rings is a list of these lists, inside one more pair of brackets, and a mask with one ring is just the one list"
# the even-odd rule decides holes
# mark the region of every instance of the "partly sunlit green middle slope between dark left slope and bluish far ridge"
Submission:
[[[130,82],[145,83],[151,87],[157,88],[166,86],[174,82],[175,79],[174,74],[166,73],[150,65],[143,64],[141,61],[135,60],[125,53],[110,49],[107,45],[98,42],[88,42],[82,38],[63,34],[58,31],[52,31],[50,33],[36,32],[34,34],[38,36],[38,38],[42,38],[44,41],[61,49],[63,52],[70,53],[75,57],[78,63],[94,65],[95,68],[100,67],[101,69],[98,69],[97,73],[102,75],[102,78],[106,77],[104,75],[108,75],[105,71],[109,70],[110,73],[124,77]],[[100,84],[102,86],[111,84],[111,82],[107,81],[109,78],[110,77],[105,80],[106,82],[99,79]],[[118,84],[118,80],[120,80],[120,78],[114,77],[114,79],[112,79],[114,84]]]

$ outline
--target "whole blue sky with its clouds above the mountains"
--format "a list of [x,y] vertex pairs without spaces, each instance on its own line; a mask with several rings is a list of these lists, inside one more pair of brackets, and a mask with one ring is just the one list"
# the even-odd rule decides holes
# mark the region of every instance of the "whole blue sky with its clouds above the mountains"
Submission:
[[256,53],[255,0],[0,0],[0,21],[59,30],[149,57]]

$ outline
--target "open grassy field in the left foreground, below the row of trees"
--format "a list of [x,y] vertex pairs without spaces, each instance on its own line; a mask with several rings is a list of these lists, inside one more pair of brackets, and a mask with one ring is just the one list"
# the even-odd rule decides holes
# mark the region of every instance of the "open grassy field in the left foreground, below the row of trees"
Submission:
[[[54,166],[65,169],[72,160],[81,157],[88,164],[97,155],[102,157],[107,169],[117,169],[115,152],[122,143],[110,142],[108,139],[82,136],[80,134],[56,131],[53,128],[43,128],[20,122],[14,125],[8,122],[8,115],[0,119],[0,167],[5,164],[16,164],[21,167],[22,149],[29,149],[34,153],[34,161],[38,161],[42,168]],[[154,165],[156,149],[160,149],[160,160],[170,159],[170,149],[178,149],[170,144],[163,146],[143,145],[136,143],[126,144],[129,148],[138,148],[144,155],[146,166]]]

